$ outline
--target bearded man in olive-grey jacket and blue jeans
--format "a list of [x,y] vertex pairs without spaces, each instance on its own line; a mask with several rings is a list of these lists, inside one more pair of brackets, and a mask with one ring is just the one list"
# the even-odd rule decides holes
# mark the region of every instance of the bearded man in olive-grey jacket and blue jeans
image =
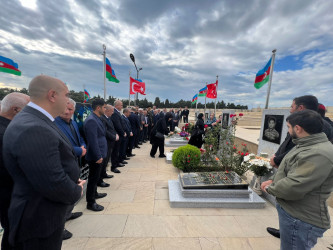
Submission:
[[261,188],[276,196],[281,249],[311,249],[330,228],[326,200],[333,190],[333,145],[315,111],[295,112],[287,125],[296,146]]

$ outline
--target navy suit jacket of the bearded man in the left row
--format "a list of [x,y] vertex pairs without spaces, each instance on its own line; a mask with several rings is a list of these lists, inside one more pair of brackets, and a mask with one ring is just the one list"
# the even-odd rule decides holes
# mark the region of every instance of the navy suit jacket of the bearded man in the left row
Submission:
[[96,162],[105,158],[108,150],[106,129],[101,119],[91,113],[83,123],[84,134],[87,138],[86,160]]

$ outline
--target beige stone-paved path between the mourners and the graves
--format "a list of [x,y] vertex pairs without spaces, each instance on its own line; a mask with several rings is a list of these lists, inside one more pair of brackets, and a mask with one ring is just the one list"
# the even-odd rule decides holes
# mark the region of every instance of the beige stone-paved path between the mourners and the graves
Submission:
[[[270,203],[264,209],[170,208],[168,180],[179,171],[165,158],[151,158],[150,147],[134,150],[121,174],[105,180],[111,186],[98,188],[108,194],[97,200],[104,211],[87,210],[81,199],[74,211],[83,216],[66,223],[73,237],[62,249],[279,249],[280,241],[266,232],[278,228]],[[333,230],[324,236],[315,249],[333,243]]]

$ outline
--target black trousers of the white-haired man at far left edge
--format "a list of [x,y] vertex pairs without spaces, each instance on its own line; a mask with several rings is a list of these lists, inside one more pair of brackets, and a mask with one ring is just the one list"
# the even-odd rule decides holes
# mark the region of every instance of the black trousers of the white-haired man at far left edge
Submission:
[[0,222],[3,228],[3,235],[1,241],[1,249],[11,249],[8,242],[9,235],[9,221],[8,221],[8,209],[10,205],[10,198],[12,195],[12,189],[7,187],[0,188]]

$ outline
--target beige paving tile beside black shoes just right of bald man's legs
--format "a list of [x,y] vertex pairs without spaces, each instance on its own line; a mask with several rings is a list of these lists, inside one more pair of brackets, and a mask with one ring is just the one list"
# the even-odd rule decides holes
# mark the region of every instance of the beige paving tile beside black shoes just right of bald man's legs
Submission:
[[121,237],[126,220],[127,215],[84,214],[66,229],[75,237]]

